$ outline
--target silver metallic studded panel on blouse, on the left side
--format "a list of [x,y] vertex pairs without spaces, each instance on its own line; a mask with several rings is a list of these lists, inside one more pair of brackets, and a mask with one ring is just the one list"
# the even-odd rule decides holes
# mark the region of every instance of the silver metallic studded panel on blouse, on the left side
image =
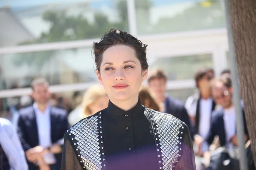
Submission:
[[105,154],[102,137],[102,117],[85,118],[68,130],[85,170],[104,170]]

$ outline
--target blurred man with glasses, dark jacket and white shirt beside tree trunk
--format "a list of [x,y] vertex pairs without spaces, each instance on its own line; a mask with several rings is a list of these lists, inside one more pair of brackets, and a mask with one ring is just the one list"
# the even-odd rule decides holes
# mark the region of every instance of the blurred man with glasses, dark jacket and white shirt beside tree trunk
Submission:
[[[235,149],[238,147],[236,113],[233,103],[233,88],[230,76],[223,75],[213,79],[210,87],[212,98],[217,104],[221,105],[222,108],[213,111],[209,131],[201,145],[206,165],[209,165],[210,161],[209,145],[212,143],[215,136],[219,137],[220,145],[233,151],[235,156],[237,154]],[[242,110],[242,114],[245,133],[244,140],[247,142],[249,137],[244,109]]]

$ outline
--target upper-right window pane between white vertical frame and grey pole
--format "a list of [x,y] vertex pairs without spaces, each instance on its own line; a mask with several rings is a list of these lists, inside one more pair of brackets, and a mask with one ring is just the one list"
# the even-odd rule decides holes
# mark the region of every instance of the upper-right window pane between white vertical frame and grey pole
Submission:
[[138,34],[224,28],[221,0],[135,0]]

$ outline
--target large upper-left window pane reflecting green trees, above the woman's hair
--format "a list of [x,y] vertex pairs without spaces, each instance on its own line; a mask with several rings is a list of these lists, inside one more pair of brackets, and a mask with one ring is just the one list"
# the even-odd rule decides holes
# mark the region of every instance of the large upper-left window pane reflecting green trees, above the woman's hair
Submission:
[[5,5],[0,2],[0,46],[91,39],[111,28],[128,31],[126,0],[9,0]]

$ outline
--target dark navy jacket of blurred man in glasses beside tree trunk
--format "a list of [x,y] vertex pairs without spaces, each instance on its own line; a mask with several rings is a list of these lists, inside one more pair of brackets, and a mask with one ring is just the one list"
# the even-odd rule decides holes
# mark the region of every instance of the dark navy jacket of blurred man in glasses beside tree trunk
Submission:
[[[244,121],[244,133],[248,136],[248,130],[247,130],[245,115],[244,115],[244,109],[243,109],[242,113],[243,113],[243,121]],[[212,120],[211,120],[210,129],[209,129],[207,137],[204,139],[204,142],[202,144],[203,152],[209,150],[209,145],[212,144],[212,141],[215,136],[219,136],[221,146],[225,146],[227,144],[223,116],[224,116],[223,109],[212,112]]]

